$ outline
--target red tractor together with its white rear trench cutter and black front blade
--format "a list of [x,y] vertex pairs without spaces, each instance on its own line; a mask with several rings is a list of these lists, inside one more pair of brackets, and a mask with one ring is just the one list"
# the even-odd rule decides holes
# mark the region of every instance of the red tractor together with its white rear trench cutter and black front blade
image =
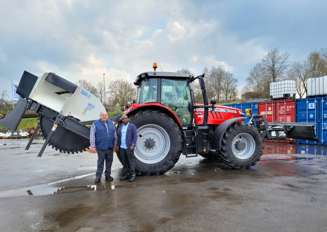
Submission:
[[[245,123],[244,111],[215,105],[208,97],[204,73],[194,77],[176,72],[144,72],[137,76],[137,99],[124,112],[137,127],[134,150],[135,171],[139,175],[159,175],[174,167],[181,153],[221,159],[232,168],[250,168],[263,154],[263,138],[302,139],[319,142],[314,123],[268,123],[265,115],[251,115]],[[195,104],[190,84],[199,80],[204,104]],[[105,110],[89,91],[56,73],[36,76],[24,71],[18,85],[15,108],[0,120],[14,134],[26,110],[40,115],[38,131],[46,146],[64,153],[78,153],[90,146],[90,125]],[[111,120],[117,121],[120,114]],[[117,128],[121,125],[118,121]],[[117,153],[118,158],[120,155]]]

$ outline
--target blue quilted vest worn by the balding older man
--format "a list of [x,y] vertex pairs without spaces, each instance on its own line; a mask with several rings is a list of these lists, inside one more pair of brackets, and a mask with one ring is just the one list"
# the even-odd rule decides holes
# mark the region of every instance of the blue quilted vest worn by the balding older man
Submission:
[[[112,148],[115,141],[114,133],[116,133],[112,122],[110,120],[107,122],[109,134],[107,133],[107,128],[101,121],[101,119],[96,120],[94,124],[96,127],[95,148],[104,151],[109,148]],[[114,133],[112,133],[112,131],[114,131]]]

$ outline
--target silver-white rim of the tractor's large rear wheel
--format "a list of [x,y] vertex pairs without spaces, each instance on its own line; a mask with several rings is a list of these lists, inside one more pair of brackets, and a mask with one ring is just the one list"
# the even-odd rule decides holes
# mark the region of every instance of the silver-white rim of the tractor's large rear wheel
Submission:
[[137,129],[134,155],[139,161],[148,164],[160,162],[167,156],[169,148],[170,138],[162,127],[147,124]]

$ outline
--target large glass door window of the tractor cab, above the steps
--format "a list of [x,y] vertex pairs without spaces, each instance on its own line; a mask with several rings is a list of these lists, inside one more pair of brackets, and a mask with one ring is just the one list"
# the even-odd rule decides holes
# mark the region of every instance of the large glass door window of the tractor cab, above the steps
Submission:
[[162,79],[161,104],[170,108],[183,126],[191,125],[190,88],[186,80]]

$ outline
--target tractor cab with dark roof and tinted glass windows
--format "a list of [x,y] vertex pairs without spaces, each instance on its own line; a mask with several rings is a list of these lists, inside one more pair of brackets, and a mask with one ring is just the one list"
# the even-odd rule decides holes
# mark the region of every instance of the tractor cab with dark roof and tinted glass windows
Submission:
[[188,74],[176,72],[141,73],[134,83],[138,85],[136,104],[160,103],[176,115],[183,127],[191,126],[190,78]]

